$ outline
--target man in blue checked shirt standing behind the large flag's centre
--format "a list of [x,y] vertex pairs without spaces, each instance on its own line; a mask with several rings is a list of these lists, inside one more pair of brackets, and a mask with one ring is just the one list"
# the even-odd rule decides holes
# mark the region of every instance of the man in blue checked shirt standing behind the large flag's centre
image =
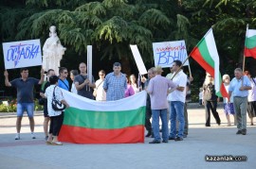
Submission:
[[105,77],[103,89],[106,92],[106,100],[114,101],[124,98],[124,92],[127,88],[126,76],[120,72],[121,65],[119,62],[113,64],[113,73]]

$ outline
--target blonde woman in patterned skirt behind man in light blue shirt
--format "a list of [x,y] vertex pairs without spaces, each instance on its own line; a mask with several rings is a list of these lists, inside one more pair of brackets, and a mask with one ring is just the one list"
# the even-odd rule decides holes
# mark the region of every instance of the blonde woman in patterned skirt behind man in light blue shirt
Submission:
[[[229,93],[229,84],[230,84],[229,75],[222,76],[222,80],[223,80],[226,91]],[[228,127],[231,126],[230,118],[229,118],[230,114],[232,114],[234,116],[234,125],[236,125],[236,117],[235,117],[235,111],[234,111],[234,105],[233,105],[233,95],[231,94],[230,103],[228,102],[227,97],[223,97],[223,103],[224,103],[224,112],[225,112],[226,118],[228,120]]]

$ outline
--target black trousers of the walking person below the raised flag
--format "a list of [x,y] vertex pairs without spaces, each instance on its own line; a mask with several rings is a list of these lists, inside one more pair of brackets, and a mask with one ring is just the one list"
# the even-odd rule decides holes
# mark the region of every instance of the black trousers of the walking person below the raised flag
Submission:
[[220,125],[220,117],[217,112],[217,101],[205,101],[205,110],[206,110],[206,127],[210,127],[210,110],[213,117],[216,120],[216,123]]

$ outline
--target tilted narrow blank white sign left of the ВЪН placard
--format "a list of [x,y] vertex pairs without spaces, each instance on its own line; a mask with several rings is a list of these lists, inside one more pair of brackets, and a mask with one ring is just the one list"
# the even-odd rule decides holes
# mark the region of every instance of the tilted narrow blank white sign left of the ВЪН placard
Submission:
[[138,52],[137,45],[136,44],[135,45],[130,44],[130,47],[131,47],[133,56],[136,60],[137,69],[138,69],[139,74],[140,75],[148,74],[148,72],[146,70],[146,67],[145,67],[145,64],[144,64],[143,60],[141,59],[141,56]]

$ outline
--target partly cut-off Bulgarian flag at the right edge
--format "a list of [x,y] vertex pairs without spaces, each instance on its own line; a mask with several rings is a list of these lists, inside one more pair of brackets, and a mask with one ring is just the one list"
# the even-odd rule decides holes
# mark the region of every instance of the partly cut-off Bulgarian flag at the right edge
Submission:
[[256,30],[247,28],[245,57],[256,59]]

